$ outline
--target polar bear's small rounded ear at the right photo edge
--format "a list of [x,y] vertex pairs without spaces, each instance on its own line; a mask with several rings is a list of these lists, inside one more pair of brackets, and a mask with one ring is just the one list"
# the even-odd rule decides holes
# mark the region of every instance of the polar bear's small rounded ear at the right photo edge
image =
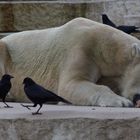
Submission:
[[140,57],[140,46],[137,43],[132,44],[131,56]]

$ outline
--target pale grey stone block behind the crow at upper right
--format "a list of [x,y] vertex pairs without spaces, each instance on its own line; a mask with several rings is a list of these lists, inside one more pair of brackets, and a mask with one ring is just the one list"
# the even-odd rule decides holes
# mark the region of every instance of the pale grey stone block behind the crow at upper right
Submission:
[[[111,20],[114,21],[114,23],[116,23],[117,25],[125,24],[126,16],[139,15],[140,1],[139,0],[108,1],[105,2],[104,12],[107,13],[107,15],[111,18]],[[135,25],[135,22],[133,24]]]

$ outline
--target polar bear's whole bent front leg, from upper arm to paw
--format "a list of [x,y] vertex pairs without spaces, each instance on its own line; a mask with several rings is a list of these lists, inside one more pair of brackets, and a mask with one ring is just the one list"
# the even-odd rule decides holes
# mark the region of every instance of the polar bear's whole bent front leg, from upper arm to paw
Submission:
[[58,94],[77,105],[132,105],[131,101],[115,94],[109,87],[97,85],[100,76],[100,70],[92,56],[80,48],[74,49],[61,71]]

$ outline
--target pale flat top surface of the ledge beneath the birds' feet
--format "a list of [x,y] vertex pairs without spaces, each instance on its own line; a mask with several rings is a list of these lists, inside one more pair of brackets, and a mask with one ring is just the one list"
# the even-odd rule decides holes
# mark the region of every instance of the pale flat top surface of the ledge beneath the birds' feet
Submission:
[[[111,108],[71,105],[43,105],[42,115],[31,115],[38,108],[28,110],[20,103],[10,103],[14,108],[5,108],[0,102],[0,119],[66,119],[66,118],[92,118],[92,119],[134,119],[140,117],[140,108]],[[25,103],[28,104],[28,103]]]

